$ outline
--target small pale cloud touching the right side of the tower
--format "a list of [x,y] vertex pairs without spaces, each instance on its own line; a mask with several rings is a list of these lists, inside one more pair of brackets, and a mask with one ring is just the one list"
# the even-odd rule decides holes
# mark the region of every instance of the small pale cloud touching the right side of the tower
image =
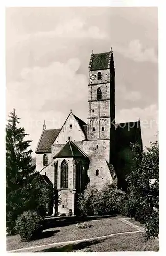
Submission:
[[123,100],[138,101],[141,99],[141,94],[138,91],[128,91],[125,86],[116,86],[116,94]]

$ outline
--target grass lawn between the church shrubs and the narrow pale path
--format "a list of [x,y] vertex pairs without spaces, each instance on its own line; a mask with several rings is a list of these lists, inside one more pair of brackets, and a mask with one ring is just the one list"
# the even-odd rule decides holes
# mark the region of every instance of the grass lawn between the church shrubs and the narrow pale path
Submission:
[[86,238],[105,236],[107,234],[137,231],[137,229],[118,219],[100,219],[86,221],[92,225],[87,229],[79,229],[76,224],[44,230],[42,237],[30,242],[21,242],[20,236],[7,236],[7,250],[51,244],[56,242],[73,241]]

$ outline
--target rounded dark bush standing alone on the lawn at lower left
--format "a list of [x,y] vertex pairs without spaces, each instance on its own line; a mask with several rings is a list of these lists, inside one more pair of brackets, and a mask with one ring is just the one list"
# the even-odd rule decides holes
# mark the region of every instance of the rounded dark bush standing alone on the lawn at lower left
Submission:
[[22,241],[30,241],[38,237],[43,231],[43,217],[36,212],[23,212],[16,220],[15,230]]

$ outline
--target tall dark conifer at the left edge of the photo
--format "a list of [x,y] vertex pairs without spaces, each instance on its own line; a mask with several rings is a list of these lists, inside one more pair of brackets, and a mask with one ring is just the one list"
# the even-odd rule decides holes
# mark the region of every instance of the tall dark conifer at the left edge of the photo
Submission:
[[22,214],[22,187],[31,170],[31,140],[25,140],[25,129],[17,127],[19,119],[15,109],[10,112],[6,126],[6,214],[7,226],[11,232],[15,220]]

